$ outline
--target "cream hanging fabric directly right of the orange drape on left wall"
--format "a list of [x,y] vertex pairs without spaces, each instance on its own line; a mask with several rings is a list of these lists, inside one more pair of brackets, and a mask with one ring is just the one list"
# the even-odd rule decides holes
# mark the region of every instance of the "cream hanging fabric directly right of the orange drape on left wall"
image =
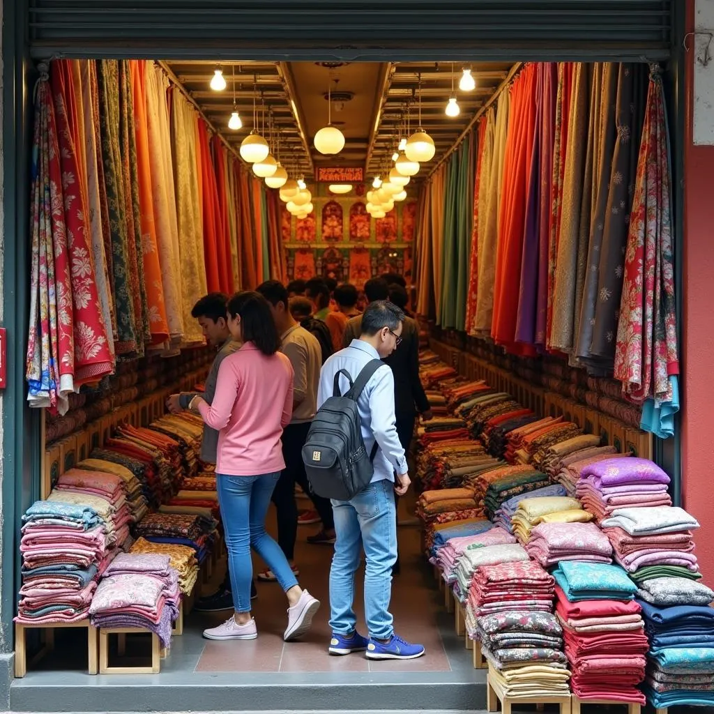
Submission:
[[[140,62],[139,79],[145,82],[146,124],[149,135],[151,198],[154,201],[154,230],[164,289],[166,322],[171,343],[183,341],[183,298],[181,250],[178,243],[174,160],[171,156],[169,79],[153,62]],[[193,318],[191,319],[193,321]]]

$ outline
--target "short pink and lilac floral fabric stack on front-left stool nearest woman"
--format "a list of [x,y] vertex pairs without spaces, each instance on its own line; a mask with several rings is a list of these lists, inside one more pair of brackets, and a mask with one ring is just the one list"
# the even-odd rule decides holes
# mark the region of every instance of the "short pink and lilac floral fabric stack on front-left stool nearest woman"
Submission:
[[169,647],[180,598],[168,555],[122,553],[96,588],[89,608],[91,623],[96,628],[151,630],[163,647]]

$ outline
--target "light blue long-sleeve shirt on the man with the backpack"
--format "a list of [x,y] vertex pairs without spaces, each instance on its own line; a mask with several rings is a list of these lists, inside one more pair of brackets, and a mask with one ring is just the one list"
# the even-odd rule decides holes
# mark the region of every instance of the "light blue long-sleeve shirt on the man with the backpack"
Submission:
[[[362,368],[371,360],[379,359],[376,349],[363,340],[353,340],[349,347],[333,354],[323,364],[320,373],[320,387],[317,393],[317,408],[333,396],[333,382],[341,369],[347,371],[355,381]],[[340,388],[344,394],[350,384],[344,375],[340,376]],[[362,438],[367,453],[372,453],[374,442],[379,444],[374,457],[375,481],[394,481],[394,472],[407,472],[404,449],[401,448],[394,416],[394,377],[388,365],[380,367],[368,381],[357,400],[357,408],[362,421]]]

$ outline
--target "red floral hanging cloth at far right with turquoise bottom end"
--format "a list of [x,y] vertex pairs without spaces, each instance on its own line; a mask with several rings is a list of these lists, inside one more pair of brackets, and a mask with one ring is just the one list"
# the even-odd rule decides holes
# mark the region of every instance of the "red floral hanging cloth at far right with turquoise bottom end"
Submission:
[[642,428],[674,433],[679,358],[674,293],[671,167],[660,69],[650,76],[625,252],[615,379],[644,403]]

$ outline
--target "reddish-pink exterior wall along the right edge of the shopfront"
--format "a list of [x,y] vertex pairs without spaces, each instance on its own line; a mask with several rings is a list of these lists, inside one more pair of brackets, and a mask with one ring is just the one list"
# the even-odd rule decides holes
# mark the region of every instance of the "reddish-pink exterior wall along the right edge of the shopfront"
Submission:
[[[687,31],[694,0],[688,0]],[[701,523],[700,567],[714,582],[714,146],[694,146],[693,52],[686,57],[683,281],[683,506]]]

